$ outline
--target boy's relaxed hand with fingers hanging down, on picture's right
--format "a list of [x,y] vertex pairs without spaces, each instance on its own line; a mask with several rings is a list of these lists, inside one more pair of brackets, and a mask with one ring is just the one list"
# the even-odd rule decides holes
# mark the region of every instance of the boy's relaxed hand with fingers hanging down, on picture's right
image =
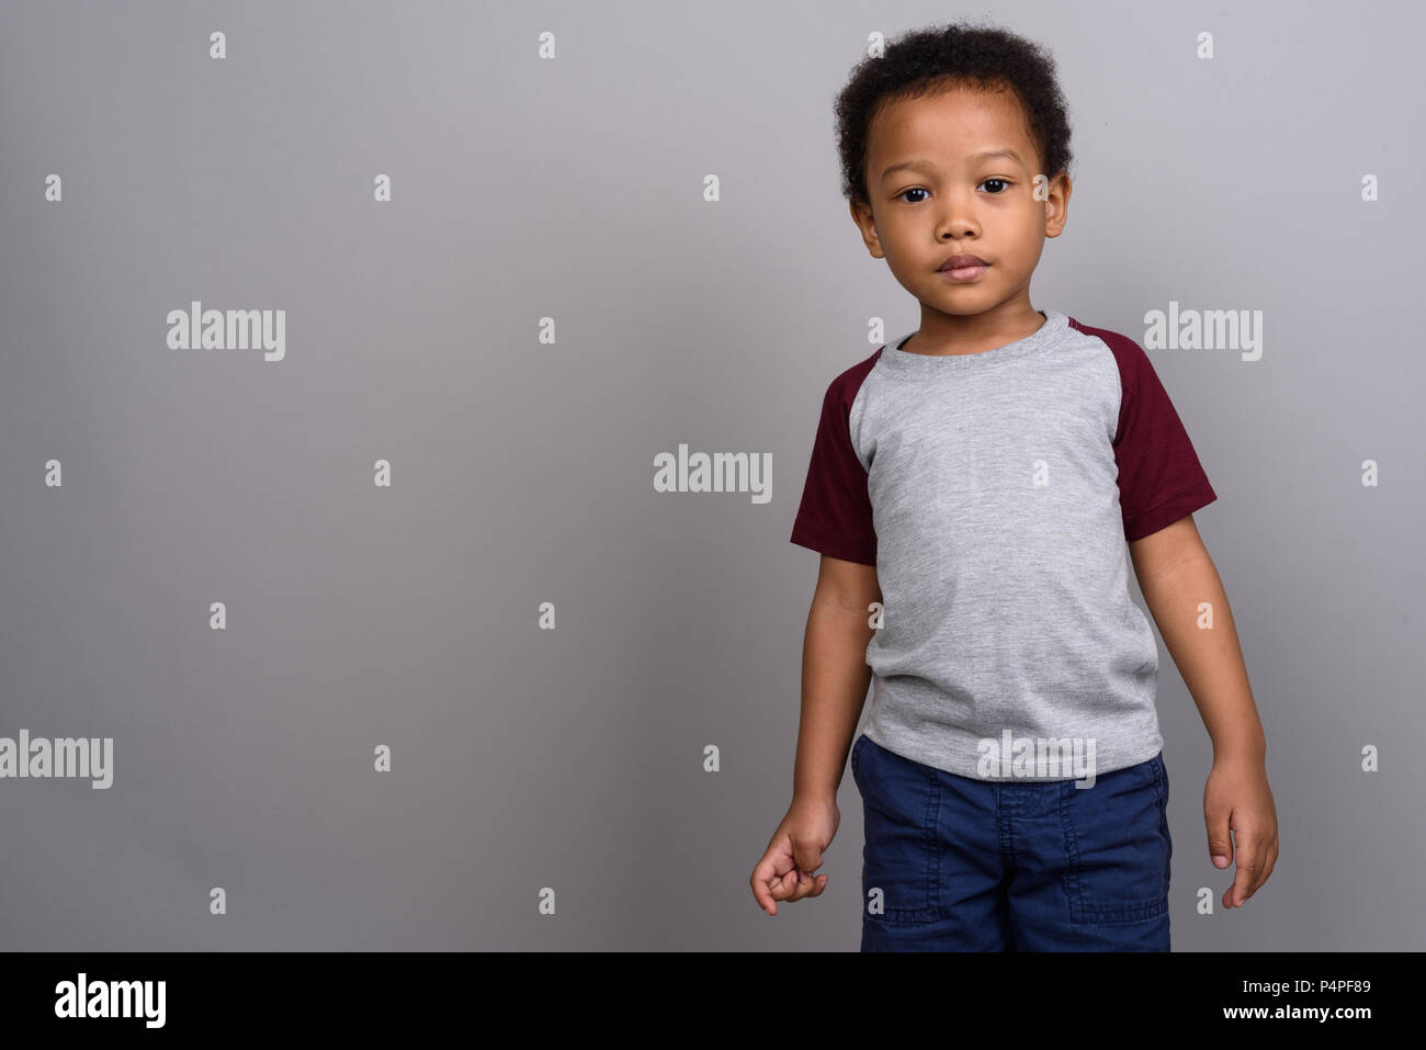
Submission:
[[1242,907],[1268,882],[1278,860],[1278,810],[1261,759],[1214,762],[1204,785],[1204,823],[1208,853],[1218,867],[1233,860],[1236,839],[1238,875],[1224,893],[1224,907]]

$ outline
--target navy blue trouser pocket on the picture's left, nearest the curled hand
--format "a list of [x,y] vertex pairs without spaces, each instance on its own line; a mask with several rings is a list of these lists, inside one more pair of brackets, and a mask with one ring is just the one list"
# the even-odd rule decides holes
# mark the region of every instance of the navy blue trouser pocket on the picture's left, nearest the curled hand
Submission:
[[930,768],[861,739],[856,775],[866,820],[864,914],[887,926],[934,922],[940,917],[940,785]]

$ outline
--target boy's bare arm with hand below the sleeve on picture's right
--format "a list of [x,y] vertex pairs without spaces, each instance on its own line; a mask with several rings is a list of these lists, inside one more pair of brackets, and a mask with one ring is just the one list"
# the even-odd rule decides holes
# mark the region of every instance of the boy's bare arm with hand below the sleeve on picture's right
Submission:
[[1129,556],[1164,645],[1214,740],[1214,769],[1204,788],[1208,850],[1219,867],[1236,860],[1224,906],[1241,907],[1278,860],[1278,813],[1268,786],[1268,743],[1228,596],[1192,515],[1132,541]]

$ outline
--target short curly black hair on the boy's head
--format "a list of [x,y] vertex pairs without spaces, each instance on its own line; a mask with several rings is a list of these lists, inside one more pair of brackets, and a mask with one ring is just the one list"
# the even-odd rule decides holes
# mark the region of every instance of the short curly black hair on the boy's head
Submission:
[[1070,117],[1054,57],[1008,30],[960,21],[906,33],[887,43],[884,56],[867,56],[853,68],[836,103],[841,193],[847,200],[870,201],[867,140],[878,110],[957,83],[1010,88],[1025,113],[1044,174],[1068,174]]

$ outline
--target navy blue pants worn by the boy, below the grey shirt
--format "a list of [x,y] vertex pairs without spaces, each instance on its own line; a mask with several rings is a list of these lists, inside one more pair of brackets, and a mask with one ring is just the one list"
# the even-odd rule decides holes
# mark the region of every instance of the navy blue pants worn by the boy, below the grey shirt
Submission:
[[1169,950],[1162,755],[1092,788],[992,782],[863,733],[851,776],[866,815],[863,952]]

